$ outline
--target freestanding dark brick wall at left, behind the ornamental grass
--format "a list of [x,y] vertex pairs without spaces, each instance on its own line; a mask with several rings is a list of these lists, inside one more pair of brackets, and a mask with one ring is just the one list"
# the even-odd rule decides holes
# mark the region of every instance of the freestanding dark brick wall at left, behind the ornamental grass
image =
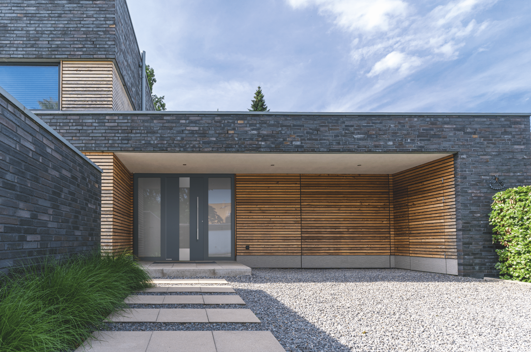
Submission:
[[0,95],[0,271],[97,248],[101,174]]

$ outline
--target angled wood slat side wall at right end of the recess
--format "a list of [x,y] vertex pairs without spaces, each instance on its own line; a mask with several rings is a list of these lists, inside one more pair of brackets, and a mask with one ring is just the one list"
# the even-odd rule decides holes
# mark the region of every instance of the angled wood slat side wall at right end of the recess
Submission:
[[393,174],[393,254],[457,259],[453,155]]

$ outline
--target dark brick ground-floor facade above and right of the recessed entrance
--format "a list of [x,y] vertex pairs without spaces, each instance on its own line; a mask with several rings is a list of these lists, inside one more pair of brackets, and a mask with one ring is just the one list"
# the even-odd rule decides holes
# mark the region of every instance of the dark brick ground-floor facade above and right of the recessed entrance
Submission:
[[496,276],[492,175],[531,184],[529,117],[296,113],[40,115],[82,151],[456,153],[459,274]]

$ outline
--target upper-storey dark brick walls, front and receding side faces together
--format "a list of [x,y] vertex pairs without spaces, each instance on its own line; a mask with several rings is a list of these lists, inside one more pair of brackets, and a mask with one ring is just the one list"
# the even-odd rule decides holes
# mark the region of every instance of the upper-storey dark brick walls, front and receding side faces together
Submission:
[[125,0],[0,0],[0,16],[2,61],[115,59],[140,110],[140,51]]

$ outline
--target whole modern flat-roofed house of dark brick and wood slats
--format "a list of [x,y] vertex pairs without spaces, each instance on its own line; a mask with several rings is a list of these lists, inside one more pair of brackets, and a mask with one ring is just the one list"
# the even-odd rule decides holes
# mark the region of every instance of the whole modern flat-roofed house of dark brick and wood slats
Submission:
[[2,9],[0,86],[104,170],[106,248],[496,276],[491,198],[531,182],[529,113],[148,111],[125,0],[68,3]]

